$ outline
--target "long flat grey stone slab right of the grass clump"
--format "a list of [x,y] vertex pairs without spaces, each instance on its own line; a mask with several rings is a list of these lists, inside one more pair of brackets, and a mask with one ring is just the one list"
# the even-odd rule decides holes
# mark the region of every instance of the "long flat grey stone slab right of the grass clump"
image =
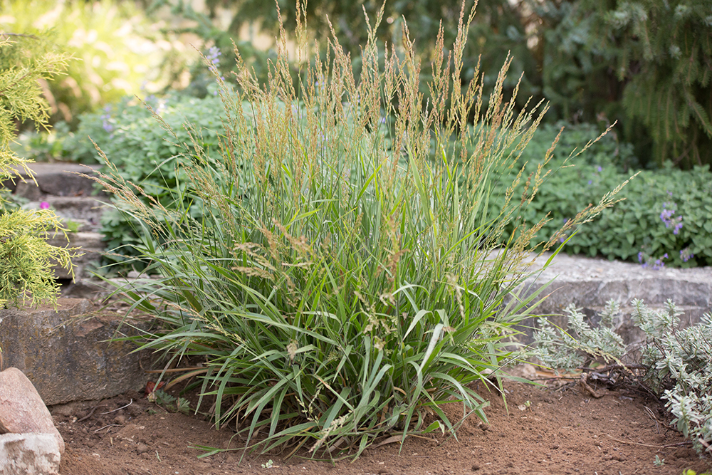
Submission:
[[[523,295],[530,295],[553,279],[542,295],[548,298],[535,310],[536,315],[554,315],[550,320],[564,325],[561,315],[564,308],[574,303],[582,308],[592,323],[598,322],[597,313],[609,300],[622,304],[623,318],[619,320],[618,331],[626,343],[637,340],[634,325],[630,321],[629,304],[635,298],[642,299],[653,309],[664,308],[668,299],[684,310],[681,324],[697,323],[705,313],[712,312],[712,267],[661,268],[654,270],[640,264],[608,261],[582,256],[558,254],[551,265],[541,271],[550,254],[535,261],[531,271],[537,274],[522,286]],[[532,326],[535,319],[523,322],[525,336],[523,343],[531,342]]]

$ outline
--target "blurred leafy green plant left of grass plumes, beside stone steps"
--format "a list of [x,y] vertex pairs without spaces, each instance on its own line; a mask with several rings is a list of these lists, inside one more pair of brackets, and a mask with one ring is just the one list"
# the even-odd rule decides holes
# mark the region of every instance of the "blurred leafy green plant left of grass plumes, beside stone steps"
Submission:
[[[65,137],[62,147],[68,158],[94,163],[98,154],[87,139],[90,137],[112,157],[112,165],[122,179],[141,188],[139,199],[171,207],[176,190],[187,184],[179,167],[184,161],[180,144],[193,137],[206,156],[219,156],[224,118],[221,109],[220,98],[212,93],[202,99],[186,95],[149,97],[145,103],[125,98],[100,113],[83,115],[77,132]],[[157,125],[154,114],[164,127]],[[184,123],[190,123],[191,128],[184,128]],[[134,217],[112,209],[103,215],[101,224],[108,249],[121,248],[120,252],[132,254],[131,245],[140,242],[140,225]]]

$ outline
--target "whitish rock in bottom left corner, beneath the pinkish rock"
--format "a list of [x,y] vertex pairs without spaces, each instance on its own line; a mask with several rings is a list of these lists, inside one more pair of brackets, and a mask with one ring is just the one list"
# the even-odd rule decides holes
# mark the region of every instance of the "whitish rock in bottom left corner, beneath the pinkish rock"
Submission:
[[0,435],[0,474],[58,475],[60,448],[53,434]]

